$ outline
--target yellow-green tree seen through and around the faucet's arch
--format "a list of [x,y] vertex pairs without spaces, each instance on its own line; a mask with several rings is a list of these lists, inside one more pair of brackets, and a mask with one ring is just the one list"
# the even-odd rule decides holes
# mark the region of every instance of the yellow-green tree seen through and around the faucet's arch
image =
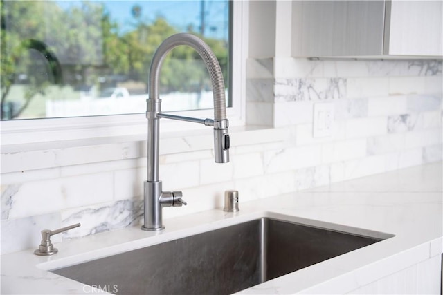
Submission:
[[[121,38],[127,45],[129,73],[132,79],[147,82],[152,56],[161,42],[179,30],[168,24],[163,17],[157,17],[151,24],[138,22],[136,28]],[[228,49],[224,41],[205,39],[213,49],[224,73],[228,75]],[[174,48],[163,61],[159,78],[161,92],[195,92],[210,88],[210,78],[198,53],[189,46]]]

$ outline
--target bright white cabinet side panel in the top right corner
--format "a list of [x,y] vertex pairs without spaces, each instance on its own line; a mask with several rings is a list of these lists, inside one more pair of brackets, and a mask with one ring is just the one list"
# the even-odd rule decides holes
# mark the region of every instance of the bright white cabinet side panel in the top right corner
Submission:
[[386,2],[386,55],[443,55],[443,1]]

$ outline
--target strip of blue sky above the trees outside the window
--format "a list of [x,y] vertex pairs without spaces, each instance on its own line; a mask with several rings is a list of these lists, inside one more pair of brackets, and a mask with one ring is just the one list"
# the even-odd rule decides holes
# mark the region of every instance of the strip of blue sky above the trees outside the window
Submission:
[[[127,32],[135,23],[132,8],[141,7],[141,20],[154,21],[157,16],[163,16],[172,26],[186,30],[192,23],[198,31],[201,24],[201,2],[204,2],[205,35],[206,37],[228,37],[228,1],[223,0],[192,0],[192,1],[151,1],[151,0],[112,0],[92,2],[103,3],[111,15],[111,19],[118,21],[120,32]],[[59,6],[67,9],[70,6],[80,6],[81,1],[57,1]]]

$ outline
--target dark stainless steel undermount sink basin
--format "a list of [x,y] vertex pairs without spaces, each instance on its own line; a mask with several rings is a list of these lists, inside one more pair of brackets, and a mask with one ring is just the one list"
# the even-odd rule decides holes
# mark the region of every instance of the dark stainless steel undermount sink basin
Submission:
[[119,294],[231,294],[380,240],[260,218],[51,272]]

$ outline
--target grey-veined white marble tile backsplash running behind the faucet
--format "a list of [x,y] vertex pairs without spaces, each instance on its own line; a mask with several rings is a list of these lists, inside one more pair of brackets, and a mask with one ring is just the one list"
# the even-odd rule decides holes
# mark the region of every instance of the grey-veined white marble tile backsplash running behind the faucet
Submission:
[[[269,129],[238,136],[226,165],[213,163],[209,140],[195,150],[201,137],[165,139],[163,188],[190,205],[164,218],[220,209],[226,189],[246,202],[442,160],[441,61],[249,59],[247,72],[246,121]],[[323,102],[334,104],[332,135],[314,137]],[[45,228],[82,223],[60,242],[140,225],[144,151],[127,142],[2,152],[1,253],[36,247]]]

